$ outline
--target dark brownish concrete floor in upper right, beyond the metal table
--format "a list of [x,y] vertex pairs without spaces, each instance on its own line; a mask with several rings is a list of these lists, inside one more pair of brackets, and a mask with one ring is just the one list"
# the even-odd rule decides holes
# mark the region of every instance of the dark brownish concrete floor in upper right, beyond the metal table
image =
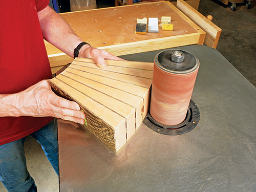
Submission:
[[255,0],[251,9],[240,5],[236,11],[218,2],[200,0],[198,11],[214,17],[212,22],[222,29],[217,50],[256,87]]

